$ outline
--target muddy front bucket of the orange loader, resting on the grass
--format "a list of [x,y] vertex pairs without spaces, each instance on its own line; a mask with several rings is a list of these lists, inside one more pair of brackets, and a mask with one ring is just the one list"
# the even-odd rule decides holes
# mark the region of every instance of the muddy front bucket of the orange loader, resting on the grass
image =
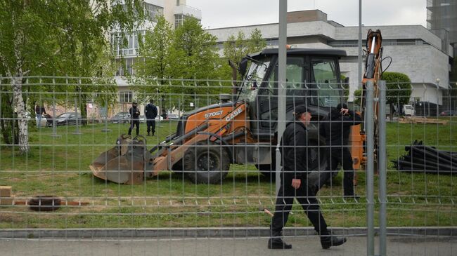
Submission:
[[144,159],[150,154],[145,142],[137,138],[132,140],[129,135],[121,135],[115,147],[103,152],[89,166],[94,176],[120,184],[141,184]]

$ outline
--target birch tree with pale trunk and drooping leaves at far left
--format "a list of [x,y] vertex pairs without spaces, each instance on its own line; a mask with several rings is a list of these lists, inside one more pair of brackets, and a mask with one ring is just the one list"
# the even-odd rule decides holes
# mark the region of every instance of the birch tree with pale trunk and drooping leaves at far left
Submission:
[[132,29],[141,20],[141,3],[0,0],[0,70],[11,86],[21,154],[29,151],[23,80],[32,75],[91,75],[99,46],[109,45],[111,29]]

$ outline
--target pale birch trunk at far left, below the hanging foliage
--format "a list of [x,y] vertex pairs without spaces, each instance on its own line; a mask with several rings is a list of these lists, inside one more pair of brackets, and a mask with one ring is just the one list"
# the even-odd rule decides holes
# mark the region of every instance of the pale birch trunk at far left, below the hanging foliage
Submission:
[[24,99],[22,98],[22,76],[15,76],[13,82],[13,105],[18,116],[18,144],[20,154],[29,152],[29,133],[27,116],[25,115]]

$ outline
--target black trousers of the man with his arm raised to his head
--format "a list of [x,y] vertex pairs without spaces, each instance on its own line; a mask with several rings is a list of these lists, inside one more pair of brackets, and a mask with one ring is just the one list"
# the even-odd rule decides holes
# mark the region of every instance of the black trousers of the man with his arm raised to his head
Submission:
[[345,189],[345,196],[354,195],[354,167],[352,166],[351,151],[347,147],[337,147],[327,149],[328,167],[326,170],[321,170],[319,175],[319,189],[338,173],[338,164],[341,164],[345,175],[343,177],[343,186]]

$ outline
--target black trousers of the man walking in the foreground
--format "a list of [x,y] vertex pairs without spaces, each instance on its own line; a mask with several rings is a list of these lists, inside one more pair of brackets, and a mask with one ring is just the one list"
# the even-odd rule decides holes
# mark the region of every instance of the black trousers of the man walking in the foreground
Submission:
[[281,236],[281,231],[288,221],[290,210],[294,202],[294,197],[302,205],[304,213],[314,226],[318,234],[327,234],[327,224],[324,220],[316,194],[307,186],[307,180],[302,179],[302,185],[299,189],[294,189],[291,179],[281,179],[281,187],[276,198],[276,208],[273,219],[271,220],[271,236]]

